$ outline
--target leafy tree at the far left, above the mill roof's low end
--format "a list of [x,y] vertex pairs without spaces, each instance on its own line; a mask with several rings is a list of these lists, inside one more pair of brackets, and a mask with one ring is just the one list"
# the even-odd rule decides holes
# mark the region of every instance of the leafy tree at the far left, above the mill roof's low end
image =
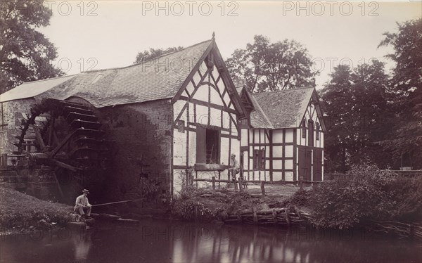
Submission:
[[56,48],[37,27],[49,25],[42,0],[0,3],[0,94],[22,82],[63,75],[51,65]]

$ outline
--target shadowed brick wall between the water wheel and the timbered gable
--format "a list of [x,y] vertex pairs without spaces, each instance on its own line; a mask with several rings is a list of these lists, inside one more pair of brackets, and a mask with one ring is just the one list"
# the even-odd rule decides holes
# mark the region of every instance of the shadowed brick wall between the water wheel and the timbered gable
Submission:
[[172,104],[149,101],[94,109],[111,143],[112,164],[106,174],[109,198],[139,198],[141,177],[157,179],[170,193],[172,185]]

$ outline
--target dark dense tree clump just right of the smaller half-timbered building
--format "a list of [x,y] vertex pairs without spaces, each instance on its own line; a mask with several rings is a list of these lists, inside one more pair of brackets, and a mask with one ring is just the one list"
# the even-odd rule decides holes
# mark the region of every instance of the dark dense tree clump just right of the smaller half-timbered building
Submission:
[[390,165],[389,153],[376,141],[385,139],[394,115],[388,105],[388,76],[384,64],[371,64],[350,69],[340,65],[331,74],[331,81],[321,91],[326,114],[325,148],[331,169],[346,172],[353,164]]

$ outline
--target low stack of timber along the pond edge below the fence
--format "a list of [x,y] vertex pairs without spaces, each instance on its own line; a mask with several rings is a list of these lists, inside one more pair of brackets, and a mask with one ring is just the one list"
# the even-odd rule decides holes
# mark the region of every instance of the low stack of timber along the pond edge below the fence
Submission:
[[292,208],[274,208],[269,210],[238,210],[226,214],[224,223],[271,224],[278,226],[300,226],[306,222],[302,212]]

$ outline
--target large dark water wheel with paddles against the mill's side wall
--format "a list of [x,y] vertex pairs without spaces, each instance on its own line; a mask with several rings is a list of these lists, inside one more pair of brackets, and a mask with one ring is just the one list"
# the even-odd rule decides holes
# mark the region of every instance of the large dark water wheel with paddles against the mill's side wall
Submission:
[[[27,136],[29,130],[32,136]],[[26,152],[27,158],[51,166],[60,197],[72,203],[81,188],[89,188],[94,197],[101,191],[110,163],[104,134],[98,117],[88,106],[48,98],[31,108],[15,146],[18,153],[25,153],[27,138],[32,137],[36,150]]]

